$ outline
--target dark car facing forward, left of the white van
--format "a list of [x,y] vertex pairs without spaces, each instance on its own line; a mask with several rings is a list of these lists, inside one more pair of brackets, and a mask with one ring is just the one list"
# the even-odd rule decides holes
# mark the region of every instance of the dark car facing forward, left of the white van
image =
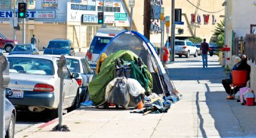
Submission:
[[72,42],[68,39],[50,40],[46,48],[43,47],[43,49],[43,55],[75,55]]

